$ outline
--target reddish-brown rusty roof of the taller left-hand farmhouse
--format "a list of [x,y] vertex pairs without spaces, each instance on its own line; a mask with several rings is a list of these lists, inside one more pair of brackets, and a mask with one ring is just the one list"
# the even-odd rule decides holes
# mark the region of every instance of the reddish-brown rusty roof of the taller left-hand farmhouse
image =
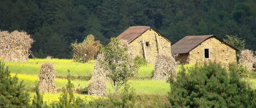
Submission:
[[[125,30],[123,33],[121,33],[119,36],[117,36],[118,39],[126,39],[128,40],[128,43],[132,42],[134,39],[139,37],[141,34],[143,34],[148,29],[154,30],[157,34],[160,34],[155,29],[151,28],[150,26],[131,26],[127,30]],[[160,36],[164,37],[166,40],[172,43],[170,39],[160,34]]]

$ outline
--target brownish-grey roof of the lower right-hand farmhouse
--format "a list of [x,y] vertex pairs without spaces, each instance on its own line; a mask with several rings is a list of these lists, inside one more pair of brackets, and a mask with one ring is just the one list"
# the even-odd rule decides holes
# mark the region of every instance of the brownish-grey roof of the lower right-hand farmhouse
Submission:
[[[182,53],[188,53],[195,49],[197,46],[199,46],[200,43],[207,40],[208,38],[214,37],[218,39],[214,35],[204,35],[204,36],[186,36],[180,41],[176,42],[171,46],[171,52],[172,54],[182,54]],[[225,43],[227,46],[237,50],[236,48],[230,46],[226,42],[218,39],[219,41]],[[238,50],[237,50],[238,51]]]

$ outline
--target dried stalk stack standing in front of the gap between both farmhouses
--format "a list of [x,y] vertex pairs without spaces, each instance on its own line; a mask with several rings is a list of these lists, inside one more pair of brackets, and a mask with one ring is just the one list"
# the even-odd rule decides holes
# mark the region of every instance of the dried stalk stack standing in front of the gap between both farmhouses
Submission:
[[159,53],[155,61],[155,72],[153,79],[155,80],[168,80],[170,76],[176,80],[176,66],[179,65],[178,61],[175,61],[177,55],[170,55],[168,53]]

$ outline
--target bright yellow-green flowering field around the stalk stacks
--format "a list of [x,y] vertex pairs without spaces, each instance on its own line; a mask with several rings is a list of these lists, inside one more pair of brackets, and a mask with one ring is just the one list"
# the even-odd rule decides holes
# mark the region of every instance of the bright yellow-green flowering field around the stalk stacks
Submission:
[[[4,62],[5,66],[8,66],[11,71],[11,75],[17,74],[19,80],[23,80],[28,91],[30,91],[31,99],[34,96],[34,89],[38,82],[38,74],[40,73],[40,67],[43,62],[49,61],[54,63],[54,69],[56,70],[56,75],[61,76],[55,78],[55,83],[59,93],[43,93],[43,100],[47,101],[47,104],[51,104],[54,101],[58,101],[60,96],[60,90],[67,84],[67,79],[65,78],[68,74],[68,69],[72,76],[76,76],[71,80],[75,88],[87,87],[89,84],[88,80],[81,80],[77,78],[79,76],[91,76],[93,72],[94,62],[91,63],[77,63],[72,62],[70,59],[29,59],[28,62]],[[185,68],[190,68],[191,65],[186,65]],[[179,68],[176,69],[179,72]],[[152,80],[151,77],[154,72],[154,67],[151,65],[146,65],[140,67],[138,73],[128,81],[130,87],[132,87],[137,96],[136,105],[138,107],[162,107],[168,104],[167,93],[170,91],[170,85],[166,81],[156,81]],[[248,83],[255,88],[256,79],[248,79]],[[112,85],[110,82],[106,84],[106,89],[108,93],[113,93]],[[120,88],[117,93],[120,93],[122,88]],[[75,96],[80,96],[83,102],[89,102],[99,98],[98,96],[90,96],[83,94],[75,94]]]

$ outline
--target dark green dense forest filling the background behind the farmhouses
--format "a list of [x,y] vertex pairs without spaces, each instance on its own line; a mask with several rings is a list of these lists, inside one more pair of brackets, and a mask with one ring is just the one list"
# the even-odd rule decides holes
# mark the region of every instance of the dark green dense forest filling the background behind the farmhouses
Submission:
[[38,58],[72,58],[76,40],[92,34],[106,45],[138,25],[173,43],[191,35],[237,35],[256,50],[256,0],[0,0],[0,30],[31,34]]

